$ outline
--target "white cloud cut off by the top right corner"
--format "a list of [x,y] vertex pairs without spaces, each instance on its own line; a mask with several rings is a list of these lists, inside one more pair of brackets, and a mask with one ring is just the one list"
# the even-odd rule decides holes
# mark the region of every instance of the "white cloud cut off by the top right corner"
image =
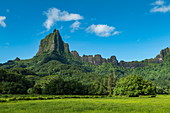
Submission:
[[154,7],[150,10],[151,13],[161,12],[161,13],[167,13],[170,12],[170,4],[166,5],[165,1],[158,0],[154,3],[152,3]]

